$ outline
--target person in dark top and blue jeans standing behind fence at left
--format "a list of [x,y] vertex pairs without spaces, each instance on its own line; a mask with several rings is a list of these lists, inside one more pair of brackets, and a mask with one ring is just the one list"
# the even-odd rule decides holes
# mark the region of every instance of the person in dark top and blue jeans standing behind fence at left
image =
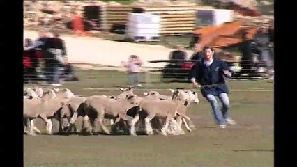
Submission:
[[49,75],[48,81],[52,86],[61,86],[60,77],[63,73],[64,56],[67,55],[65,42],[60,38],[59,33],[53,33],[54,37],[48,42],[49,50]]

